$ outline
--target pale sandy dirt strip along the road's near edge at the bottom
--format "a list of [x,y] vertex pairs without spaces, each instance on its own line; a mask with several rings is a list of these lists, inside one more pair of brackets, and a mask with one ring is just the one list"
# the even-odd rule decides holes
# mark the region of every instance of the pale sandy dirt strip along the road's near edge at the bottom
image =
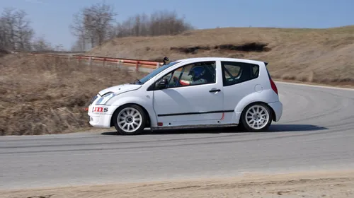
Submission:
[[137,184],[9,190],[0,197],[354,197],[354,172],[244,175],[243,177]]

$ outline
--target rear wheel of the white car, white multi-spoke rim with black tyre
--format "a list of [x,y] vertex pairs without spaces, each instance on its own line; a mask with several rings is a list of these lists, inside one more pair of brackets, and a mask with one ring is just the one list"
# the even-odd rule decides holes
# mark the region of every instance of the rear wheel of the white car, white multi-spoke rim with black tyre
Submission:
[[241,115],[242,127],[248,132],[266,131],[272,123],[270,109],[263,103],[254,103],[245,108]]

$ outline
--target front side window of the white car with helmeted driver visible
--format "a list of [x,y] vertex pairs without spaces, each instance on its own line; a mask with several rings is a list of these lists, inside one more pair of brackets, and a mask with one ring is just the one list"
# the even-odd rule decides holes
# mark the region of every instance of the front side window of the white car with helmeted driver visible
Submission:
[[166,79],[167,85],[160,88],[176,88],[182,86],[194,86],[216,82],[216,62],[196,62],[186,64],[171,71],[155,83],[159,88],[159,82]]

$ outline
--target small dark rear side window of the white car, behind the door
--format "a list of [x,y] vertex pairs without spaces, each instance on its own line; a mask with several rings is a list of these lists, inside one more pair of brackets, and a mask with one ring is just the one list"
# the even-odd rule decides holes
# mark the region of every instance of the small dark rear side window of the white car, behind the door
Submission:
[[232,86],[258,78],[259,66],[257,64],[244,62],[221,62],[221,64],[224,86]]

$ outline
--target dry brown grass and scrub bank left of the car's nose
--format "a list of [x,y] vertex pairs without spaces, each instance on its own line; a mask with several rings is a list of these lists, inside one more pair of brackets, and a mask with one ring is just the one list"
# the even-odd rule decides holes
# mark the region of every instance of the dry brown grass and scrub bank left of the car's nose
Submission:
[[142,76],[116,67],[50,57],[0,58],[0,135],[57,134],[89,127],[84,110],[98,91]]

